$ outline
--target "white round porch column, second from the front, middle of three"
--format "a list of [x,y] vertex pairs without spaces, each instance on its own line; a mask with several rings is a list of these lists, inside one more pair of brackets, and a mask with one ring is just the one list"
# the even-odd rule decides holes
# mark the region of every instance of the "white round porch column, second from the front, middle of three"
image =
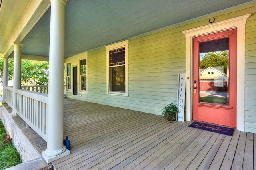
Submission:
[[13,69],[13,91],[12,91],[12,113],[16,115],[16,93],[15,89],[21,88],[21,48],[23,44],[14,43],[14,69]]

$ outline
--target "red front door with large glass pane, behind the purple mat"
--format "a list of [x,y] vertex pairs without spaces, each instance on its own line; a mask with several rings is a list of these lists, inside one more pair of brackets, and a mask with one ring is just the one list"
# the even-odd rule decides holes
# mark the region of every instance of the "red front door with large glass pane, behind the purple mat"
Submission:
[[237,30],[193,38],[193,119],[236,127]]

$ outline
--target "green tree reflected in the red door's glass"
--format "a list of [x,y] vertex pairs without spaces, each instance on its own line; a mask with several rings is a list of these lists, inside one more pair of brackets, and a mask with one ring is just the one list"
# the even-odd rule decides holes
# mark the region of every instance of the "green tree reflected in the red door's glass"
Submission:
[[226,74],[229,65],[229,52],[228,51],[218,51],[206,53],[202,60],[200,61],[200,68],[206,69],[208,67],[223,67],[223,72]]

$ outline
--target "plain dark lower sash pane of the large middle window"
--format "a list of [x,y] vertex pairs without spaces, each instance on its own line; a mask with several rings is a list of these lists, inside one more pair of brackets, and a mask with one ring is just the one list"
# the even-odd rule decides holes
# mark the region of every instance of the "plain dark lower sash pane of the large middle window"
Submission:
[[110,68],[110,91],[125,92],[125,66]]

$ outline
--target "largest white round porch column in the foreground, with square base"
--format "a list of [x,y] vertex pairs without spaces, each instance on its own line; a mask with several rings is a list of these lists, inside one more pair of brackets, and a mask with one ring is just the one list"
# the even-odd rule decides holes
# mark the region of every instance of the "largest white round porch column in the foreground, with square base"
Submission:
[[[46,162],[70,154],[63,145],[66,0],[51,0]],[[65,152],[66,151],[66,152]],[[62,154],[63,153],[63,154]]]

